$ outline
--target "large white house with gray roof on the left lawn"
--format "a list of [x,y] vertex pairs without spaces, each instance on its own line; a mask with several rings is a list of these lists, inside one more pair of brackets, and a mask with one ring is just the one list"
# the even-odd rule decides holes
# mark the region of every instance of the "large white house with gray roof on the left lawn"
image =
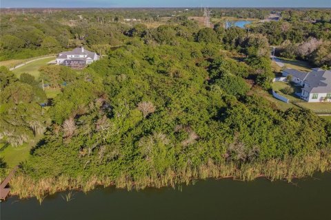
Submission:
[[77,47],[72,51],[59,53],[59,56],[57,56],[57,65],[79,68],[85,67],[97,60],[99,60],[97,53],[85,50],[84,47]]

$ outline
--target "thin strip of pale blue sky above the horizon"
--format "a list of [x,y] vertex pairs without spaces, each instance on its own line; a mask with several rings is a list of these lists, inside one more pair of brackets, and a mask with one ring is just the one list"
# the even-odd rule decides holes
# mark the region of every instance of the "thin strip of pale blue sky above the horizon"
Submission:
[[0,0],[0,8],[331,8],[331,0]]

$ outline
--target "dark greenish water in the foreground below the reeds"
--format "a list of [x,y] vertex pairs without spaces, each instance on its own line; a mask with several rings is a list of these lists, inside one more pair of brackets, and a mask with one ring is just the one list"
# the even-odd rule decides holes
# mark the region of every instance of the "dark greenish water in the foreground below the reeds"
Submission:
[[68,202],[65,194],[46,197],[41,205],[12,197],[0,204],[0,219],[331,219],[331,173],[294,184],[208,179],[179,189],[99,188],[74,192]]

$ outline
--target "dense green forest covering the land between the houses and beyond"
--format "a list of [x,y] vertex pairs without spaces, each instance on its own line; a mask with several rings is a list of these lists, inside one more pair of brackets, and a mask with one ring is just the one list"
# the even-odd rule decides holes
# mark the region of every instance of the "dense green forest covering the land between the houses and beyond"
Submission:
[[[241,13],[259,18],[265,11]],[[270,89],[274,78],[270,44],[321,41],[301,58],[330,66],[330,14],[310,12],[317,21],[301,22],[307,13],[282,12],[282,21],[250,31],[201,28],[185,16],[148,28],[119,22],[126,12],[3,14],[1,59],[79,45],[107,55],[79,72],[41,67],[38,80],[1,67],[2,141],[18,146],[44,133],[20,164],[13,192],[42,199],[46,192],[97,184],[144,188],[228,176],[290,180],[330,170],[331,123],[308,110],[282,111],[256,92]],[[156,14],[141,19],[157,21]],[[40,80],[61,93],[47,100]],[[49,106],[41,107],[45,102]],[[6,167],[2,159],[0,166]]]

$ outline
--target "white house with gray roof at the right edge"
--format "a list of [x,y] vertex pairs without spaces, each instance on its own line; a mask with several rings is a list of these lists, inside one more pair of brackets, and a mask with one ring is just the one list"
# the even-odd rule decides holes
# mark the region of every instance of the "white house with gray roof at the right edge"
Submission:
[[292,76],[292,82],[302,86],[301,98],[307,102],[331,101],[331,71],[320,68],[305,73],[284,69],[283,76]]

